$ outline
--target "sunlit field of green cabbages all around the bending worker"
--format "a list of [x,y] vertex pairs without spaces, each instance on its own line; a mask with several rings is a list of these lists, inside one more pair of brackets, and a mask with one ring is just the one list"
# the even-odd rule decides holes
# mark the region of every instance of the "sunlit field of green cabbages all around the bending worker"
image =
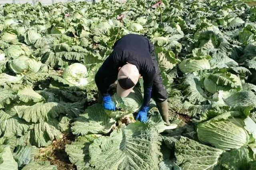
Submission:
[[[0,6],[0,170],[255,170],[256,7],[240,0]],[[122,36],[148,37],[171,126],[134,93],[97,104]],[[111,65],[110,65],[111,67]]]

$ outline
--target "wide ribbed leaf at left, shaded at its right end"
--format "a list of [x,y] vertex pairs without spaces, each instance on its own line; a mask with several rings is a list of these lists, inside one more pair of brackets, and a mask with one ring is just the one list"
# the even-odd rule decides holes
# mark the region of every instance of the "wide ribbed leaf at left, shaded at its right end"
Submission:
[[15,106],[18,116],[27,122],[44,122],[49,118],[55,118],[60,113],[67,113],[67,109],[56,102],[36,103],[32,106]]

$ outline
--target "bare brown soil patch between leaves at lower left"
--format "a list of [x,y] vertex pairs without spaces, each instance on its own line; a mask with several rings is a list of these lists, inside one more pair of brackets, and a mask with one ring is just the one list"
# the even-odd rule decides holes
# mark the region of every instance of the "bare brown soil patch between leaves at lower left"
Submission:
[[38,160],[50,161],[52,165],[57,165],[58,170],[76,170],[65,152],[66,144],[71,144],[75,140],[73,134],[67,134],[63,138],[54,140],[49,147],[40,148]]

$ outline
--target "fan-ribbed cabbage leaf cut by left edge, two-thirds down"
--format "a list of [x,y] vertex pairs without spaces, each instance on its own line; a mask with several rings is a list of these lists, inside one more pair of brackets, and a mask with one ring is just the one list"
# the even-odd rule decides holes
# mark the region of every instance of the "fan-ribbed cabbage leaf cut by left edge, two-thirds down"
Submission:
[[28,130],[29,124],[16,115],[11,116],[0,110],[0,134],[3,136],[23,136]]

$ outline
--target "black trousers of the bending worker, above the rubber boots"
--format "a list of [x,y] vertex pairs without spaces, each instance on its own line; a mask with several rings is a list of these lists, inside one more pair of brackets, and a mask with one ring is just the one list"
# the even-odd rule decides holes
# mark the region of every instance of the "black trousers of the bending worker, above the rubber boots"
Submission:
[[[152,58],[156,73],[154,75],[154,81],[153,81],[153,86],[152,86],[152,92],[151,92],[151,98],[154,99],[156,102],[163,102],[168,98],[166,89],[163,85],[163,80],[160,74],[160,69],[158,67],[158,63],[156,61],[156,55],[154,54],[154,51],[150,53],[150,56]],[[117,81],[113,84],[110,85],[108,88],[108,91],[111,93],[116,89]],[[102,94],[98,95],[98,103],[102,103]]]

